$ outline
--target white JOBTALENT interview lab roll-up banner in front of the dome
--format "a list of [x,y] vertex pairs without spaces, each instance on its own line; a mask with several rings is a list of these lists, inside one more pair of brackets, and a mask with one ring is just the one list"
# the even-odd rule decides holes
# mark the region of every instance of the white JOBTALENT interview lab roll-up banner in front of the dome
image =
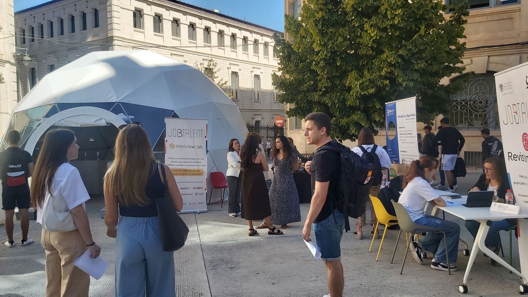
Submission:
[[165,118],[165,164],[183,198],[181,213],[207,212],[207,119]]

